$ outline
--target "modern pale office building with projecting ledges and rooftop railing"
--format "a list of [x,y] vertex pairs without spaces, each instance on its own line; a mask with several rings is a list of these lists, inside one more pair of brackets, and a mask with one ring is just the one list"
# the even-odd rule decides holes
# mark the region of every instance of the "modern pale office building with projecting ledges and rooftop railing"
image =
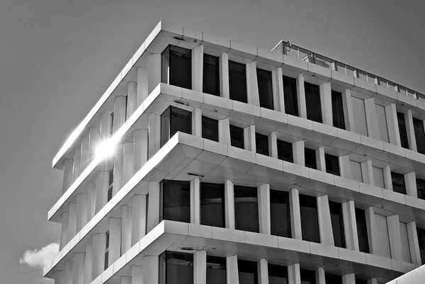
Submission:
[[387,283],[425,263],[424,120],[420,93],[289,42],[160,22],[53,159],[45,277]]

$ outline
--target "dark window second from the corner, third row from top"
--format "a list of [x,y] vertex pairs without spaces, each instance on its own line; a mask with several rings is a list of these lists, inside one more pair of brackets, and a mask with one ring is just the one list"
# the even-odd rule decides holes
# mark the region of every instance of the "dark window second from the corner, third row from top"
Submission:
[[200,224],[225,227],[225,185],[200,183]]

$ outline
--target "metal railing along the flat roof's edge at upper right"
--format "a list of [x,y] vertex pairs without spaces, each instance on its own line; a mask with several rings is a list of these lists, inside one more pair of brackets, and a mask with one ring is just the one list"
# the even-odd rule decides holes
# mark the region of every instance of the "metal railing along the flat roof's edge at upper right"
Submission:
[[288,55],[289,57],[300,59],[312,64],[317,64],[319,66],[371,82],[387,89],[394,89],[399,93],[404,93],[406,96],[413,96],[416,99],[425,100],[425,95],[422,93],[397,84],[394,81],[390,81],[375,74],[365,72],[361,69],[345,64],[343,62],[336,61],[335,59],[331,59],[324,55],[319,55],[318,53],[312,52],[311,50],[306,50],[303,47],[293,45],[290,42],[280,40],[278,45],[273,47],[271,51],[282,53],[283,55]]

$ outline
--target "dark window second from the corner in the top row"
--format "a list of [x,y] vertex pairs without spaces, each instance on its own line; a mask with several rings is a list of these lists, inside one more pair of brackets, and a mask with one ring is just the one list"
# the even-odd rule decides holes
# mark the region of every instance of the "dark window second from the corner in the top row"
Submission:
[[203,92],[220,96],[220,64],[218,57],[204,53]]

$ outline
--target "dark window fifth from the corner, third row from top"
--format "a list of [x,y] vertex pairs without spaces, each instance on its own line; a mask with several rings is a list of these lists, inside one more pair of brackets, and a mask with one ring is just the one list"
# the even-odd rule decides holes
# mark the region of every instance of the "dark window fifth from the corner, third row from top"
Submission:
[[317,200],[314,196],[300,194],[300,213],[302,239],[309,242],[320,242],[319,219],[317,216]]

